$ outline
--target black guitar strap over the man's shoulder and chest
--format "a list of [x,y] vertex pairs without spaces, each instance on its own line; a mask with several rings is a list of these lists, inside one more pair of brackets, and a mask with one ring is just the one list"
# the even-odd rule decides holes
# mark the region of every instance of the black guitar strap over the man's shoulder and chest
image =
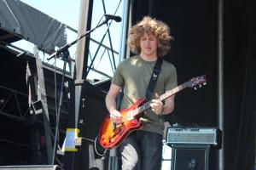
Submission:
[[158,58],[155,62],[154,69],[152,71],[152,75],[150,78],[150,82],[148,83],[148,88],[146,91],[146,99],[151,99],[152,94],[154,92],[154,86],[155,82],[157,82],[157,78],[160,74],[161,65],[162,65],[163,59]]

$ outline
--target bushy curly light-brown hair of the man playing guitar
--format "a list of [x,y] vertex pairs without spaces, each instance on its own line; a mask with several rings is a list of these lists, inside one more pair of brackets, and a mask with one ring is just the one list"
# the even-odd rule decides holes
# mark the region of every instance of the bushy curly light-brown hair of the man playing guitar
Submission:
[[169,26],[163,21],[152,19],[145,16],[143,20],[138,22],[135,26],[131,27],[128,33],[127,46],[131,48],[134,54],[140,54],[140,38],[144,33],[152,33],[158,40],[157,42],[157,56],[162,57],[167,54],[171,48],[170,41],[173,37],[170,36]]

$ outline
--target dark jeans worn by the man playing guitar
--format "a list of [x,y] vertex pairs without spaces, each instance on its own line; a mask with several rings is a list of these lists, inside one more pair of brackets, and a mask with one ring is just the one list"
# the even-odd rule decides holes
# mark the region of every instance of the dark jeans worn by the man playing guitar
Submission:
[[162,135],[137,130],[119,146],[122,170],[160,170]]

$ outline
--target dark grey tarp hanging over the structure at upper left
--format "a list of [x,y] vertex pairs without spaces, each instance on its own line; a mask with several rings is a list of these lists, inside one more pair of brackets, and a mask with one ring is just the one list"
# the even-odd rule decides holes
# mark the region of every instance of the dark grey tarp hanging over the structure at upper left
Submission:
[[66,25],[20,0],[0,1],[0,29],[53,51],[66,44]]

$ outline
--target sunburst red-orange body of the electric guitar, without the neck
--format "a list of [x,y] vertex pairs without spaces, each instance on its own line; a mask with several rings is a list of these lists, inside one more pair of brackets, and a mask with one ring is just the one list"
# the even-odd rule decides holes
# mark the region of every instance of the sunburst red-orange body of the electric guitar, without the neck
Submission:
[[136,110],[138,106],[143,105],[146,101],[147,99],[137,99],[130,108],[119,111],[123,116],[123,123],[121,124],[113,123],[109,116],[105,117],[99,134],[102,147],[113,149],[121,144],[132,131],[143,127],[140,117],[143,116],[144,112],[131,117],[131,111]]

